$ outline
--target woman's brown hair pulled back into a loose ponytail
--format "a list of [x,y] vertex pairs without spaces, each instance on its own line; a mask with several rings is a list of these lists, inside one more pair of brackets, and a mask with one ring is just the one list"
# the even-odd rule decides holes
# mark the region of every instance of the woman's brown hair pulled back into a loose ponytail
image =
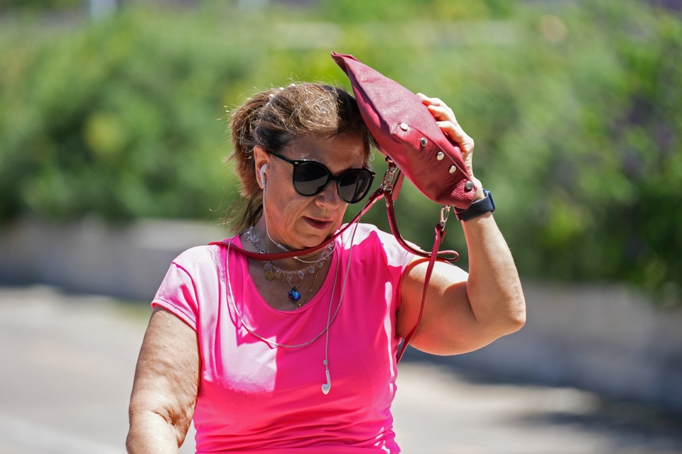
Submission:
[[[331,137],[342,133],[364,139],[365,160],[373,145],[355,99],[344,89],[325,84],[291,84],[260,92],[232,113],[229,159],[237,162],[241,199],[227,211],[224,223],[242,231],[263,214],[262,190],[256,182],[254,148],[279,153],[304,135]],[[233,225],[234,224],[234,225]]]

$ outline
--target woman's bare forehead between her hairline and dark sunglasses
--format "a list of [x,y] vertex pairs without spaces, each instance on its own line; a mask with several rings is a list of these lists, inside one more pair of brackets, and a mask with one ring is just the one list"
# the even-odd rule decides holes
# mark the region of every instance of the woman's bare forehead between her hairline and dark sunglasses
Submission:
[[284,150],[288,157],[322,162],[330,170],[334,167],[362,167],[365,162],[364,141],[355,134],[337,134],[331,137],[305,135],[294,140]]

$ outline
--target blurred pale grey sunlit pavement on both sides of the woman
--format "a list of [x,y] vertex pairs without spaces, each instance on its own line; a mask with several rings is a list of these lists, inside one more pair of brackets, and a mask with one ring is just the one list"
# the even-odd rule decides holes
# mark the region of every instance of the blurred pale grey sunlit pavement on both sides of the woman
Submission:
[[[104,297],[0,288],[0,454],[124,454],[148,314]],[[398,384],[405,453],[682,453],[679,420],[577,389],[495,383],[415,358]],[[191,437],[180,453],[194,452]]]

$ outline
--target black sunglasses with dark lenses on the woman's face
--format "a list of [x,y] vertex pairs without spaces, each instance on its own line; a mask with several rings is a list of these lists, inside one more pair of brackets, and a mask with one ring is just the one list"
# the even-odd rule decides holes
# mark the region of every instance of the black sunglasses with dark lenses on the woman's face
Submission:
[[348,204],[356,204],[367,195],[374,181],[374,172],[369,169],[349,169],[335,177],[320,162],[307,159],[289,159],[278,153],[271,155],[293,165],[293,187],[302,196],[315,196],[323,192],[330,182],[336,182],[339,196]]

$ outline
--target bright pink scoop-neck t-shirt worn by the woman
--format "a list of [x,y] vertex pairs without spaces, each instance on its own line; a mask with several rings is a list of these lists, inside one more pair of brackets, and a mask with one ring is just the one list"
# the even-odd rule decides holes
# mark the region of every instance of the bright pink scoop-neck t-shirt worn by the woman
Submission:
[[237,250],[228,258],[227,246],[200,246],[173,261],[153,305],[199,336],[197,453],[399,453],[395,325],[413,255],[367,224],[336,242],[322,289],[296,311],[264,301]]

